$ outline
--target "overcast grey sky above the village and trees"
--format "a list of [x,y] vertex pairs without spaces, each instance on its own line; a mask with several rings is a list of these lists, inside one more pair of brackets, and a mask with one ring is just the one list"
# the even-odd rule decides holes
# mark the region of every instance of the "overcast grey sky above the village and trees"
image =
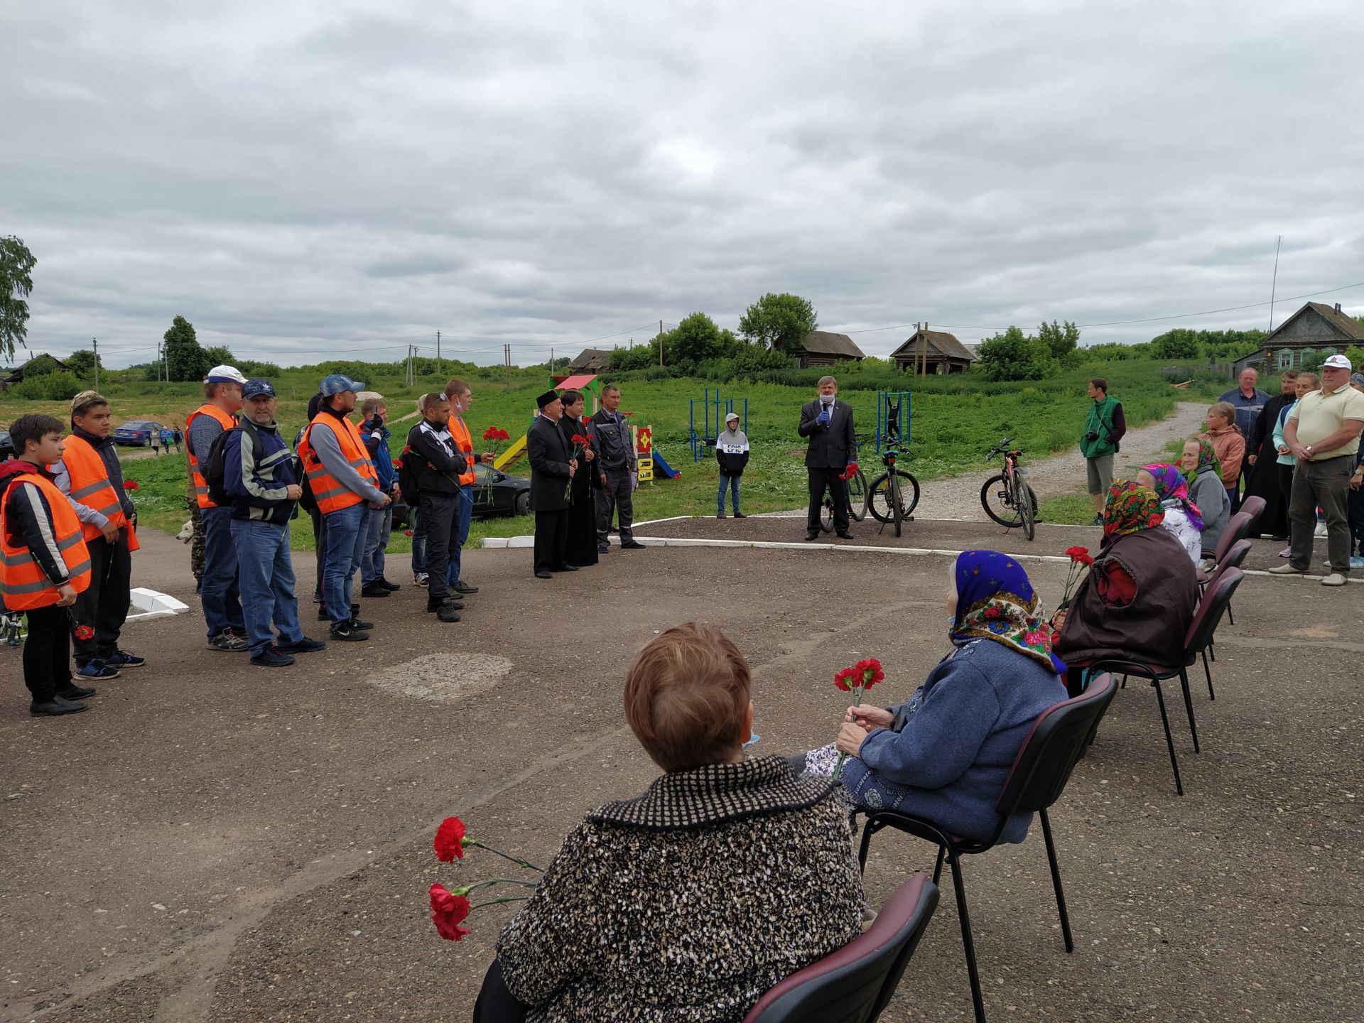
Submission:
[[887,355],[1263,303],[1278,235],[1364,311],[1364,4],[211,7],[0,8],[31,351],[531,363],[790,291]]

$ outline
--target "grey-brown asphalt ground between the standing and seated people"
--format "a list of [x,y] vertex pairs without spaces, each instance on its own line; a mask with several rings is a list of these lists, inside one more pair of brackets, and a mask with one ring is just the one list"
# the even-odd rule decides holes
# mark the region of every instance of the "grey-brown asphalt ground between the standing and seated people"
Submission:
[[[696,529],[723,525],[768,528]],[[1090,532],[1030,547],[1093,547]],[[1013,550],[1001,533],[923,520],[904,543]],[[754,667],[758,752],[832,738],[836,668],[880,656],[889,701],[947,649],[944,555],[652,547],[544,582],[528,550],[501,550],[466,555],[483,592],[462,622],[438,625],[405,587],[366,606],[374,641],[269,671],[205,648],[183,546],[153,536],[136,558],[136,582],[191,612],[131,623],[124,647],[149,664],[89,713],[30,719],[18,652],[0,649],[4,1020],[465,1019],[514,907],[438,938],[427,887],[499,868],[436,863],[435,825],[458,813],[543,861],[591,806],[648,784],[619,701],[656,630],[723,615]],[[297,567],[311,592],[311,557]],[[1065,566],[1028,569],[1054,603]],[[1361,625],[1357,587],[1249,577],[1218,633],[1217,701],[1194,679],[1200,754],[1169,701],[1184,798],[1154,693],[1118,694],[1053,813],[1075,953],[1035,828],[967,865],[992,1019],[1360,1018]],[[870,899],[932,865],[878,836]],[[883,1019],[970,1019],[949,889]]]

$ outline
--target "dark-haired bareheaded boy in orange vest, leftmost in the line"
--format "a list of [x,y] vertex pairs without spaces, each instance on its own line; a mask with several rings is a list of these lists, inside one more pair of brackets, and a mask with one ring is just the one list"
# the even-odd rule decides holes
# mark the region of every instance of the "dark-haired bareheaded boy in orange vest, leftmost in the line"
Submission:
[[71,678],[70,608],[90,585],[80,520],[46,466],[61,460],[61,420],[19,416],[10,424],[18,457],[0,465],[0,597],[29,617],[23,682],[29,713],[55,717],[86,709],[93,687]]

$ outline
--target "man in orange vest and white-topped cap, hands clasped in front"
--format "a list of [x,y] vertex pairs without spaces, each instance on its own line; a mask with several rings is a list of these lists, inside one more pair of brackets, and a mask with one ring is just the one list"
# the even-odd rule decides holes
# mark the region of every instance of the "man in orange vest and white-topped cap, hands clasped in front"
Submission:
[[214,366],[203,379],[206,401],[184,421],[184,449],[190,456],[190,480],[203,518],[203,578],[199,603],[209,625],[209,649],[239,653],[248,649],[237,589],[237,551],[232,546],[232,509],[209,498],[202,462],[218,435],[237,424],[241,386],[247,378],[235,366]]

